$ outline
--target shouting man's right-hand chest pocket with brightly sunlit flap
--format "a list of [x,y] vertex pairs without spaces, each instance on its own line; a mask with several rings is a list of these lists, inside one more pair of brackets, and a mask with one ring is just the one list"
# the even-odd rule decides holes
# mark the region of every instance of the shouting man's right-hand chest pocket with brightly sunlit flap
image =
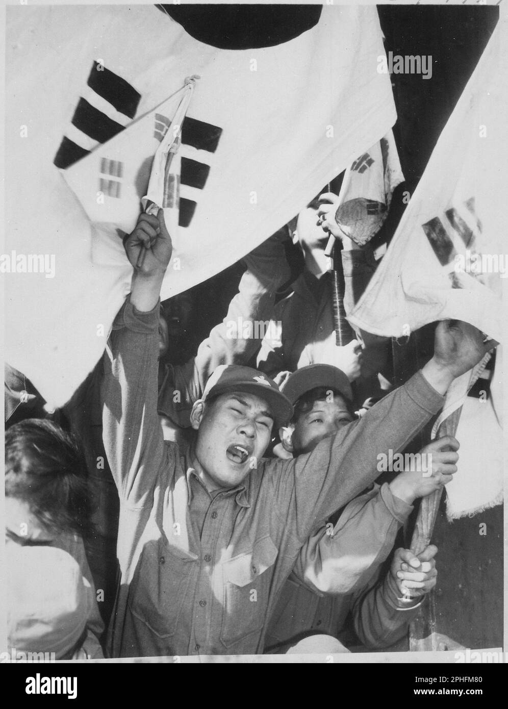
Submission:
[[277,554],[276,545],[267,535],[256,540],[252,550],[237,554],[222,565],[224,595],[220,640],[225,647],[261,631]]

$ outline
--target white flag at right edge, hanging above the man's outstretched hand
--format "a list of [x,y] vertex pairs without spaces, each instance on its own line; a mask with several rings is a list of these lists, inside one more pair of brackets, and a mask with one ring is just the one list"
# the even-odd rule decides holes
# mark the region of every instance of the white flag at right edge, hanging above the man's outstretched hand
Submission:
[[508,66],[499,35],[498,27],[439,136],[383,261],[349,313],[362,330],[401,337],[434,320],[454,318],[502,340]]

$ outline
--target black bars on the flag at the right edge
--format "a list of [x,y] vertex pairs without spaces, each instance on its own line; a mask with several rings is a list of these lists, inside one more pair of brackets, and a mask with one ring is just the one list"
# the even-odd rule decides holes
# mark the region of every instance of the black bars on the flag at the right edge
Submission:
[[[468,211],[474,216],[478,232],[480,233],[482,225],[475,213],[475,198],[470,197],[470,199],[465,201],[464,204]],[[447,209],[445,214],[453,230],[460,235],[465,247],[472,249],[475,245],[475,233],[470,226],[461,217],[455,207]],[[448,264],[451,264],[455,260],[457,252],[456,248],[453,246],[453,241],[448,236],[448,233],[444,228],[441,219],[439,217],[429,219],[429,221],[422,224],[422,229],[429,240],[429,244],[431,245],[434,254],[438,258],[439,263],[441,266],[447,267]],[[461,284],[459,283],[454,271],[449,273],[448,277],[451,279],[453,288],[461,288]]]

